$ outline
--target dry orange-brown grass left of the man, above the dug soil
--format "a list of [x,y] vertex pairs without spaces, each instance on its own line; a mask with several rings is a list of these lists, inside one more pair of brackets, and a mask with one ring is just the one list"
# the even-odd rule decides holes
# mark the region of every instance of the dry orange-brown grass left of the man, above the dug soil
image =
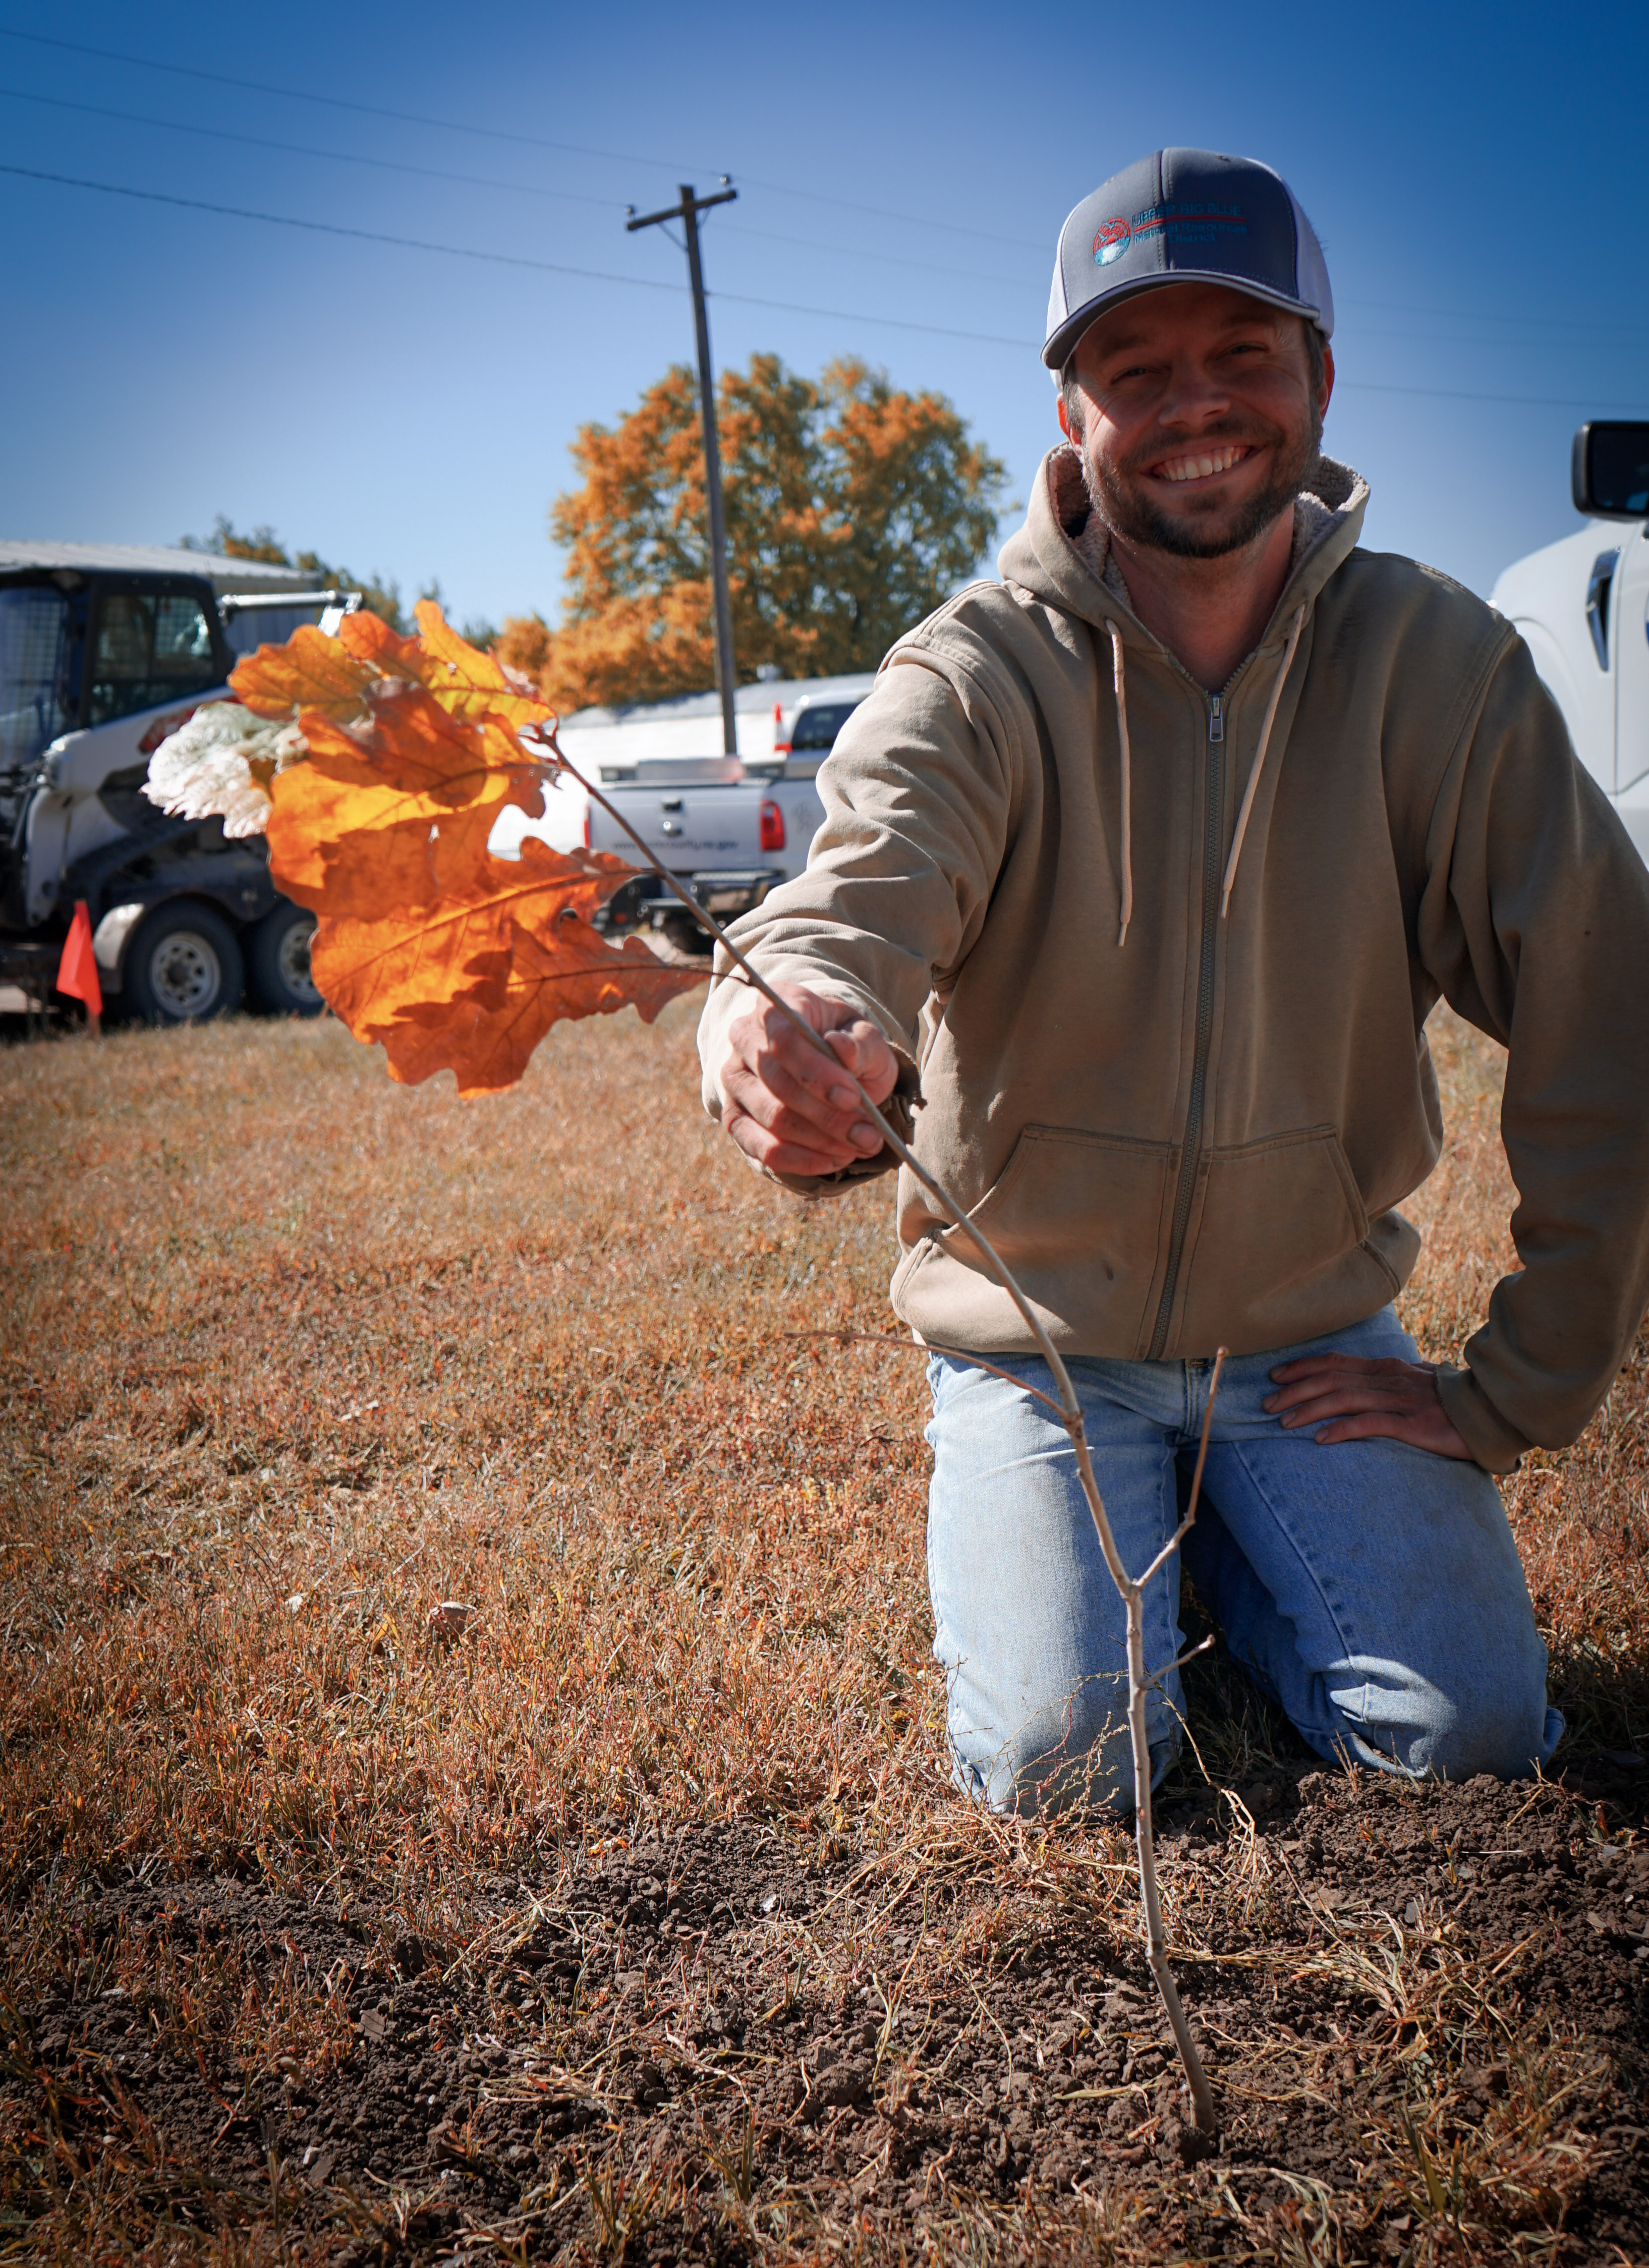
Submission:
[[690,1032],[481,1109],[333,1023],[5,1061],[14,1869],[907,1801],[919,1379],[778,1336],[882,1313],[885,1216],[724,1159]]

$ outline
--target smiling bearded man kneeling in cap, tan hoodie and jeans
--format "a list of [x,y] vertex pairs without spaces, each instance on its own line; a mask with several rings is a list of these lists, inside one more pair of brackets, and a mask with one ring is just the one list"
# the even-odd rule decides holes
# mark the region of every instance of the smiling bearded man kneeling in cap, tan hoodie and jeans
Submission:
[[[1331,329],[1266,166],[1161,150],[1071,213],[1043,345],[1066,447],[1003,581],[894,646],[805,875],[737,934],[1041,1311],[1123,1558],[1175,1529],[1227,1347],[1184,1558],[1232,1653],[1325,1758],[1517,1776],[1563,1719],[1492,1474],[1574,1440],[1649,1295],[1649,875],[1515,633],[1359,549],[1368,488],[1320,451]],[[1522,1266],[1458,1365],[1393,1309],[1420,1250],[1397,1207],[1443,1139],[1438,998],[1511,1050],[1520,1191]],[[785,1186],[891,1166],[726,971],[701,1055]],[[957,1783],[1127,1801],[1123,1610],[1048,1374],[910,1175],[898,1238]],[[1168,1563],[1159,1771],[1177,1615]]]

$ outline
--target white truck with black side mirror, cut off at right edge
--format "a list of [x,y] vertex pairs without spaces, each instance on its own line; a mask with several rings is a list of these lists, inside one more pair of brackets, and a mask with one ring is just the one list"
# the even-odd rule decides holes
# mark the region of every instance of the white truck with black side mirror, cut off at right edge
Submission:
[[1583,424],[1572,485],[1588,526],[1508,567],[1490,606],[1649,862],[1649,424]]

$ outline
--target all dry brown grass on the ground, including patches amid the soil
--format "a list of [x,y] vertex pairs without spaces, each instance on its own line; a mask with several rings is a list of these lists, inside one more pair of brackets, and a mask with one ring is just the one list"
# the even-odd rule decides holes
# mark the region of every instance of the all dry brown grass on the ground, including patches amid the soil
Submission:
[[[118,1984],[168,2053],[211,2041],[252,2077],[313,2077],[352,2023],[295,1955],[254,1973],[234,1946],[77,1941],[73,1901],[243,1876],[358,1901],[381,1964],[395,1926],[465,1955],[506,1878],[553,1882],[574,1851],[701,1821],[771,1821],[853,1860],[876,1912],[916,1880],[975,1882],[948,1935],[925,1935],[921,1896],[916,1950],[946,1975],[1012,1960],[1062,1914],[1132,1944],[1118,1837],[1009,1835],[948,1792],[919,1365],[785,1336],[885,1325],[887,1198],[801,1209],[746,1175],[699,1114],[692,1023],[690,1000],[651,1032],[563,1027],[485,1105],[392,1086],[336,1023],[0,1057],[11,2000],[48,1971],[79,1996]],[[1438,1055],[1449,1148],[1415,1207],[1429,1245],[1406,1320],[1452,1354],[1511,1256],[1511,1191],[1495,1050],[1445,1023]],[[1649,1744],[1647,1368],[1640,1343],[1581,1447],[1508,1488],[1572,1726],[1558,1762]],[[470,1608],[458,1635],[431,1628],[435,1601]],[[1191,1703],[1223,1785],[1291,1753],[1225,1669],[1204,1665]],[[1170,1935],[1207,1941],[1220,1914],[1263,1960],[1291,1898],[1238,1821],[1218,1862],[1168,1880]],[[1597,2048],[1551,2012],[1506,2014],[1515,1969],[1490,1989],[1443,1937],[1379,1944],[1370,1923],[1320,1957],[1334,1989],[1390,2007],[1393,2053],[1424,2007],[1456,2041],[1449,2068],[1481,2050],[1474,2025],[1522,2057],[1499,2141],[1490,2121],[1468,2150],[1443,2093],[1415,2096],[1406,2134],[1370,2125],[1372,2191],[1420,2200],[1406,2257],[1490,2257],[1488,2236],[1461,2252],[1468,2227],[1549,2245],[1585,2152],[1540,2105]],[[828,1960],[857,1975],[869,1955]],[[1304,2093],[1331,2053],[1227,2059],[1225,2084]],[[136,2157],[129,2180],[86,2148],[23,2175],[25,2146],[7,2148],[23,2157],[0,2182],[0,2257],[299,2257],[279,2180],[272,2207],[220,2200],[202,2234],[161,2211]],[[635,2180],[662,2195],[674,2177]],[[590,2175],[597,2250],[615,2182],[612,2164]],[[1434,2184],[1458,2191],[1452,2223]],[[1155,2259],[1141,2211],[1121,2191],[1009,2218],[959,2198],[930,2241]],[[773,2257],[900,2245],[869,2218],[735,2220],[733,2250]],[[1350,2195],[1304,2180],[1286,2209],[1232,2193],[1227,2234],[1257,2259],[1361,2259],[1354,2220]],[[621,2243],[615,2218],[606,2248]]]

